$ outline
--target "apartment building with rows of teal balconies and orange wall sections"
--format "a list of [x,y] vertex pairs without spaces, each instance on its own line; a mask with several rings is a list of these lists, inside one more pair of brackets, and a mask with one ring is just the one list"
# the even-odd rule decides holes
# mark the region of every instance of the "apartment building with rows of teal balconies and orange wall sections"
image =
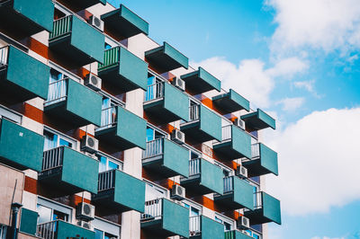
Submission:
[[126,6],[5,0],[0,31],[0,238],[267,238],[281,224],[264,184],[277,154],[258,140],[275,120]]

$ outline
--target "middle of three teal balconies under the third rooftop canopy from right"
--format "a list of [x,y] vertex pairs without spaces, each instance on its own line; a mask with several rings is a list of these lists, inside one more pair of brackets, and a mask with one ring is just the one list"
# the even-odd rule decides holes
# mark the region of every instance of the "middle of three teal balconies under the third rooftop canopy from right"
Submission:
[[199,195],[211,192],[223,193],[223,173],[219,166],[202,158],[189,161],[189,177],[180,179],[180,184]]

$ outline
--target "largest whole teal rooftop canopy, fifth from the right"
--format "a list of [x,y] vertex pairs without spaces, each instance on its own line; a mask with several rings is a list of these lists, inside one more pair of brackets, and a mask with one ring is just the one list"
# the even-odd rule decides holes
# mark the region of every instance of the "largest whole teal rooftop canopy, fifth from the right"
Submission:
[[117,33],[124,39],[144,33],[148,35],[148,22],[145,22],[129,8],[120,4],[120,7],[101,16],[105,30]]

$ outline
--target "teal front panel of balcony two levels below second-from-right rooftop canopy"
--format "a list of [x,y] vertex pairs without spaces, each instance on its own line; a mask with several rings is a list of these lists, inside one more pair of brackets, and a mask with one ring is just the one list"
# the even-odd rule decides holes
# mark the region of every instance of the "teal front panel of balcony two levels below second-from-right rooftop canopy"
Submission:
[[254,209],[254,191],[247,181],[234,176],[234,201],[245,208]]

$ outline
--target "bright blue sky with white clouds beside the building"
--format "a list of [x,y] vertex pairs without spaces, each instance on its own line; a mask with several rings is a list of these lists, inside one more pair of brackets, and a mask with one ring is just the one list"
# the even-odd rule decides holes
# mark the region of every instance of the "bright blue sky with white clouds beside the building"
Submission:
[[[118,6],[119,0],[108,0]],[[360,238],[360,1],[124,0],[226,90],[276,119],[273,239]]]

